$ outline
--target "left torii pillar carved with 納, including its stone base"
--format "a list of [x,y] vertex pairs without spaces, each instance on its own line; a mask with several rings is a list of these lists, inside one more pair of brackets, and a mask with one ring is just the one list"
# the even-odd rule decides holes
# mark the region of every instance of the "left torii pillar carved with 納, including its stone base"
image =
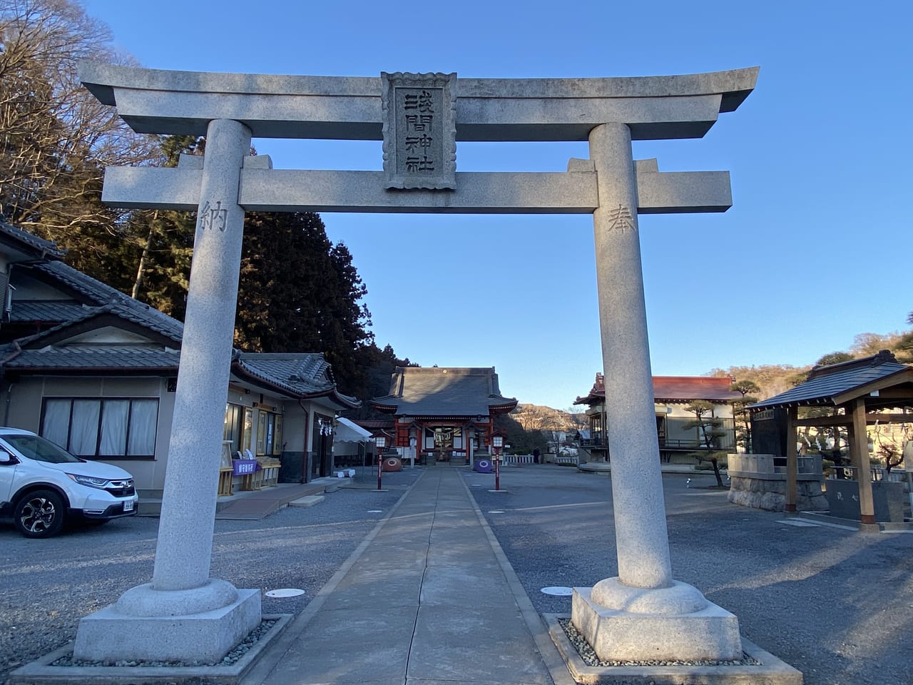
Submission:
[[152,583],[79,621],[76,659],[218,661],[261,619],[258,589],[209,577],[251,132],[210,121]]

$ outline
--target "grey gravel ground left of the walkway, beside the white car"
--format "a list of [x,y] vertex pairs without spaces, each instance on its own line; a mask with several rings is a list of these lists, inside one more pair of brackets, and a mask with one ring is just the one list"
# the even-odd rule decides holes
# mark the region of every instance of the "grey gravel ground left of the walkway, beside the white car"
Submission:
[[[236,587],[300,588],[298,597],[263,597],[264,614],[297,614],[419,473],[386,473],[388,491],[377,492],[366,469],[354,480],[363,489],[342,488],[316,506],[288,507],[260,521],[216,521],[212,576]],[[0,521],[0,684],[9,671],[74,639],[79,618],[152,580],[158,524],[133,516],[28,540]]]

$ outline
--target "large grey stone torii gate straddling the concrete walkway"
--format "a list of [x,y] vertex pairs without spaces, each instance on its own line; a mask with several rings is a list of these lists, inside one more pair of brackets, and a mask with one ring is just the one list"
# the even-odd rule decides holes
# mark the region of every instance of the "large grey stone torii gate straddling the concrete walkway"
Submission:
[[[576,588],[602,659],[740,659],[738,619],[675,581],[654,419],[637,216],[722,212],[727,172],[662,173],[634,140],[699,138],[758,69],[618,79],[337,78],[84,63],[134,131],[206,136],[177,168],[109,168],[102,200],[197,212],[194,263],[152,582],[79,624],[77,659],[221,659],[257,590],[209,577],[245,211],[592,214],[612,426],[618,576]],[[274,170],[252,137],[383,140],[383,172]],[[588,141],[566,173],[460,173],[456,141]],[[167,627],[167,630],[164,628]],[[202,628],[202,629],[201,629]]]

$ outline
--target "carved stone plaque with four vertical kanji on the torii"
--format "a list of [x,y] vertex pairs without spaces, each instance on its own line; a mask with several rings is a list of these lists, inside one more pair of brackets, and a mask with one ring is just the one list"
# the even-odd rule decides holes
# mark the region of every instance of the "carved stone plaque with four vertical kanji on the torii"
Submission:
[[456,73],[381,79],[386,187],[456,188]]

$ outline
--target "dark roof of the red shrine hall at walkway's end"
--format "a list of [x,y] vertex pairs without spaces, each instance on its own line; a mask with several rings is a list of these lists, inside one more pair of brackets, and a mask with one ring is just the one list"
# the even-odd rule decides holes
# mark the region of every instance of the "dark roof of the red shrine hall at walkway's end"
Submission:
[[488,416],[495,408],[517,406],[516,399],[500,395],[494,368],[401,366],[390,395],[372,402],[395,407],[400,416]]

